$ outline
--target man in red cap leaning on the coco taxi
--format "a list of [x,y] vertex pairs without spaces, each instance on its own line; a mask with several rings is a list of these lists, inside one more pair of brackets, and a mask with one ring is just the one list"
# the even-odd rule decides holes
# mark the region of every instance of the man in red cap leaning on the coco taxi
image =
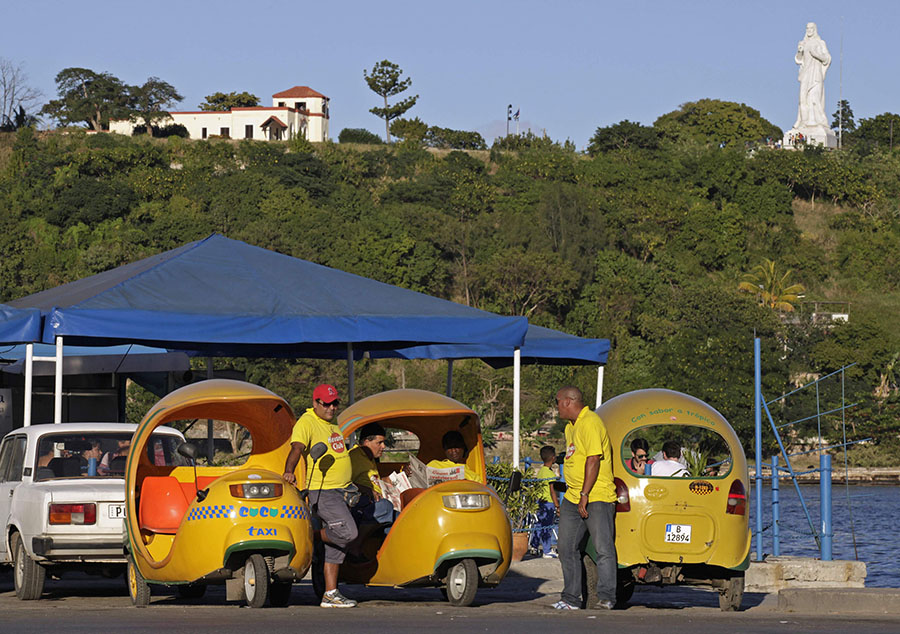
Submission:
[[[291,452],[284,463],[285,482],[294,484],[294,474],[300,457],[304,462],[309,503],[322,522],[319,531],[325,544],[325,594],[320,605],[323,608],[352,608],[356,601],[342,595],[337,588],[338,571],[346,556],[347,545],[356,539],[356,522],[344,498],[344,489],[351,485],[353,468],[350,452],[344,443],[341,430],[332,421],[340,405],[338,391],[333,385],[323,383],[313,390],[313,406],[297,419],[291,435]],[[327,452],[315,463],[313,470],[309,449],[316,443],[325,443]]]

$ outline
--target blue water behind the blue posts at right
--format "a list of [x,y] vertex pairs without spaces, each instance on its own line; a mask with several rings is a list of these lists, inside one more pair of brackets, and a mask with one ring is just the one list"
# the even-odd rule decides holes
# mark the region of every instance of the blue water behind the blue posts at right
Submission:
[[[751,498],[756,483],[751,480]],[[800,490],[816,531],[821,528],[819,485],[802,484]],[[849,502],[848,502],[849,491]],[[900,560],[900,486],[854,486],[835,484],[832,488],[833,559],[866,562],[866,586],[900,586],[897,561]],[[781,481],[779,491],[782,555],[819,557],[816,541],[790,480]],[[754,532],[751,550],[756,550],[756,501],[750,500],[750,530]],[[853,523],[851,525],[851,515]],[[772,552],[772,493],[770,482],[763,482],[763,552]],[[854,530],[856,548],[854,550]],[[858,555],[858,556],[857,556]]]

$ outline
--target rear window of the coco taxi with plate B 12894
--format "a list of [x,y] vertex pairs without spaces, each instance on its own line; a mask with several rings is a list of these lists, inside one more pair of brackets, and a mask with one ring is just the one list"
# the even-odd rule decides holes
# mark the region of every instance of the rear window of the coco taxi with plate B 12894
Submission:
[[[676,454],[668,456],[666,449]],[[622,442],[622,464],[651,477],[724,478],[733,464],[731,449],[716,431],[697,425],[647,425]],[[656,468],[653,467],[656,463]]]

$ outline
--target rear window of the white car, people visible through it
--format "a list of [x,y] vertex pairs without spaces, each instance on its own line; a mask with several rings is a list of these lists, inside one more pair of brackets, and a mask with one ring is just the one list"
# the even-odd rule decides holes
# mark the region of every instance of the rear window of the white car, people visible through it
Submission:
[[[175,452],[180,442],[172,434],[153,434],[147,458],[158,466],[187,466],[187,460]],[[47,434],[38,443],[34,479],[124,478],[130,446],[127,432]]]

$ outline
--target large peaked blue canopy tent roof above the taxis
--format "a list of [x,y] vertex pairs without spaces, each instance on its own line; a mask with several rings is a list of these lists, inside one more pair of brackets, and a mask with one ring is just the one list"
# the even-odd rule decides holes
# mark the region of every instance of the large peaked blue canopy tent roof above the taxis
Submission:
[[422,344],[521,346],[502,317],[213,234],[10,303],[43,341],[139,343],[206,356],[341,358]]

